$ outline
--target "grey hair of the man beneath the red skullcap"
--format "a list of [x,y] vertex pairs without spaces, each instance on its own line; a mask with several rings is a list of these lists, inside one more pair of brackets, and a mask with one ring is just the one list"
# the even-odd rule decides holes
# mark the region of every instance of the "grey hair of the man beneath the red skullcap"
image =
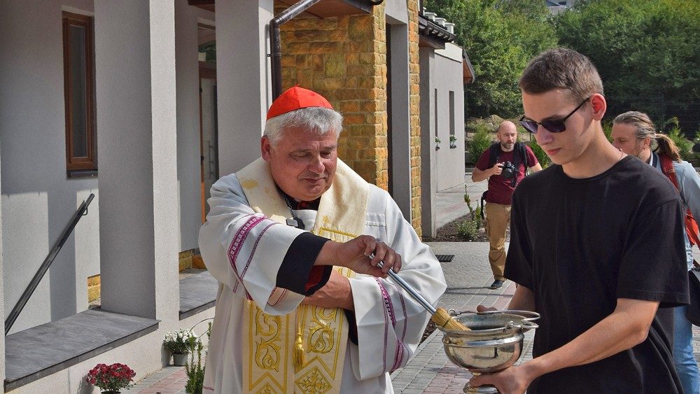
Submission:
[[267,136],[274,146],[282,138],[284,130],[290,127],[308,129],[309,132],[315,132],[318,135],[333,131],[337,138],[342,131],[343,115],[330,108],[316,106],[300,108],[268,119],[262,135]]

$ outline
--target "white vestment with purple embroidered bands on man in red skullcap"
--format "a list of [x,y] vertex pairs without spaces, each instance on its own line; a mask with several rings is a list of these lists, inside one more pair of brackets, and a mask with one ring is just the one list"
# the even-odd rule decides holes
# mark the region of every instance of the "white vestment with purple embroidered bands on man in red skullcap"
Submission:
[[[338,165],[351,171],[340,160]],[[388,193],[368,186],[364,234],[385,241],[399,253],[402,279],[435,304],[446,288],[440,263]],[[276,288],[276,275],[290,244],[304,230],[256,213],[235,174],[224,176],[212,186],[209,206],[207,223],[200,230],[200,251],[219,288],[204,392],[242,393],[246,303],[252,300],[271,315],[295,311],[304,295]],[[314,228],[314,211],[295,214],[305,229]],[[233,246],[235,253],[231,252]],[[391,279],[356,274],[349,281],[358,345],[347,342],[340,391],[393,393],[388,372],[403,367],[412,357],[430,315]]]

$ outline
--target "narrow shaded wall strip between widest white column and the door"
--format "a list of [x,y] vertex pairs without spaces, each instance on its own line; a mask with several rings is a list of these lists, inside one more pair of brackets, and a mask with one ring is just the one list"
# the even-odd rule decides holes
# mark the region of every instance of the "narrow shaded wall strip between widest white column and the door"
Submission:
[[197,248],[202,225],[200,176],[200,65],[197,8],[175,3],[177,178],[180,192],[180,251]]

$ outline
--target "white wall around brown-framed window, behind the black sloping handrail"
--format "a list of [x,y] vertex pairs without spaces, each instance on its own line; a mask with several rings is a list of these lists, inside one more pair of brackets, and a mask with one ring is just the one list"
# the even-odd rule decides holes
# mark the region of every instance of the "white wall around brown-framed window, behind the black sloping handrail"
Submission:
[[[90,192],[97,195],[97,178],[66,178],[62,5],[71,12],[92,13],[91,0],[0,1],[6,313],[80,202]],[[99,273],[97,202],[93,200],[11,332],[87,309],[87,276]]]

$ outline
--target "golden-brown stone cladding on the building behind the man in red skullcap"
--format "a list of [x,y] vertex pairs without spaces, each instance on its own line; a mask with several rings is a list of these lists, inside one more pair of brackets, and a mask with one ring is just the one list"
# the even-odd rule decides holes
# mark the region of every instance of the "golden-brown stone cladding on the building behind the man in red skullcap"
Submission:
[[[418,1],[408,0],[411,78],[412,225],[421,232]],[[283,5],[276,3],[276,12]],[[318,19],[300,15],[281,27],[282,85],[323,94],[344,115],[338,155],[367,182],[388,188],[386,17]]]

